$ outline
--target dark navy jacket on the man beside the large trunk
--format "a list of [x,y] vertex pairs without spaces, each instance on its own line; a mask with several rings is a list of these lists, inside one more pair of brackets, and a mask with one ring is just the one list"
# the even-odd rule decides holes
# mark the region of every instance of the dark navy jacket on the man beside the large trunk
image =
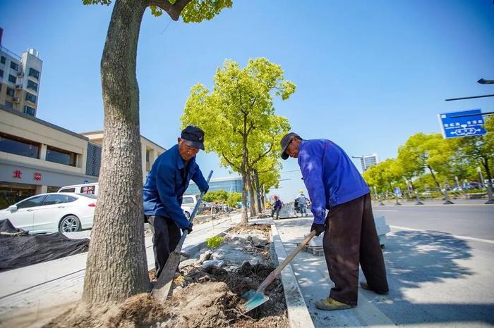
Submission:
[[[183,168],[186,169],[185,179],[181,171]],[[195,163],[195,156],[185,166],[180,157],[179,145],[162,153],[147,173],[143,187],[144,214],[170,217],[179,227],[187,227],[187,218],[180,207],[183,193],[191,179],[200,191],[209,188],[199,165]]]

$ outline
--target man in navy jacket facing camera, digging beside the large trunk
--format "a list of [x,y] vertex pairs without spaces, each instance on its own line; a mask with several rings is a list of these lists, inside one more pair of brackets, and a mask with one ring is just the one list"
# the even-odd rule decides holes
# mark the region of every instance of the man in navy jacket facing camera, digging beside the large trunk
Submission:
[[172,251],[179,244],[180,229],[192,231],[192,224],[181,209],[182,196],[193,180],[200,191],[209,186],[195,163],[195,155],[204,150],[204,132],[189,125],[182,130],[178,144],[162,153],[152,164],[143,187],[144,215],[154,230],[156,277],[161,274]]

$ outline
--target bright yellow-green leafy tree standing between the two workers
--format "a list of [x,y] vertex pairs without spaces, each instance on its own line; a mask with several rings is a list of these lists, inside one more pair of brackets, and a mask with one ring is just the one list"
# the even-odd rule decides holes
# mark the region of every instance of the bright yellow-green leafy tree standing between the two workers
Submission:
[[251,215],[261,211],[258,190],[279,183],[279,141],[290,129],[287,118],[275,115],[273,97],[286,100],[295,84],[284,80],[280,65],[266,58],[250,59],[245,68],[226,60],[213,77],[210,92],[203,84],[191,89],[182,126],[204,130],[205,151],[214,151],[224,167],[242,176],[242,222],[247,222],[247,191]]

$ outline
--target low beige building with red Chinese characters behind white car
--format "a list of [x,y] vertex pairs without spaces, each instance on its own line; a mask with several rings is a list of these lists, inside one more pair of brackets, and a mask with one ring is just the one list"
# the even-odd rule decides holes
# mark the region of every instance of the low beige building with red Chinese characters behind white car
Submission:
[[0,208],[69,184],[97,182],[99,168],[88,161],[101,158],[101,147],[88,149],[87,137],[0,105]]

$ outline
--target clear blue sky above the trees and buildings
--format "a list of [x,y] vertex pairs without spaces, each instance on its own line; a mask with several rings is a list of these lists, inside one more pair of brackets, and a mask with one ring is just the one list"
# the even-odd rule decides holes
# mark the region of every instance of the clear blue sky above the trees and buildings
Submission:
[[[179,136],[188,92],[212,86],[225,58],[266,57],[297,86],[276,113],[304,139],[327,138],[351,156],[395,157],[416,132],[440,132],[437,113],[482,108],[494,98],[492,0],[234,0],[214,20],[170,22],[145,14],[138,46],[140,129],[169,148]],[[0,1],[2,46],[40,51],[38,118],[74,132],[102,129],[100,58],[112,7],[82,1]],[[166,29],[165,29],[166,28]],[[204,172],[229,175],[215,154]],[[356,165],[359,162],[356,160]],[[295,160],[284,162],[282,198],[303,188]],[[289,200],[288,199],[288,200]]]

